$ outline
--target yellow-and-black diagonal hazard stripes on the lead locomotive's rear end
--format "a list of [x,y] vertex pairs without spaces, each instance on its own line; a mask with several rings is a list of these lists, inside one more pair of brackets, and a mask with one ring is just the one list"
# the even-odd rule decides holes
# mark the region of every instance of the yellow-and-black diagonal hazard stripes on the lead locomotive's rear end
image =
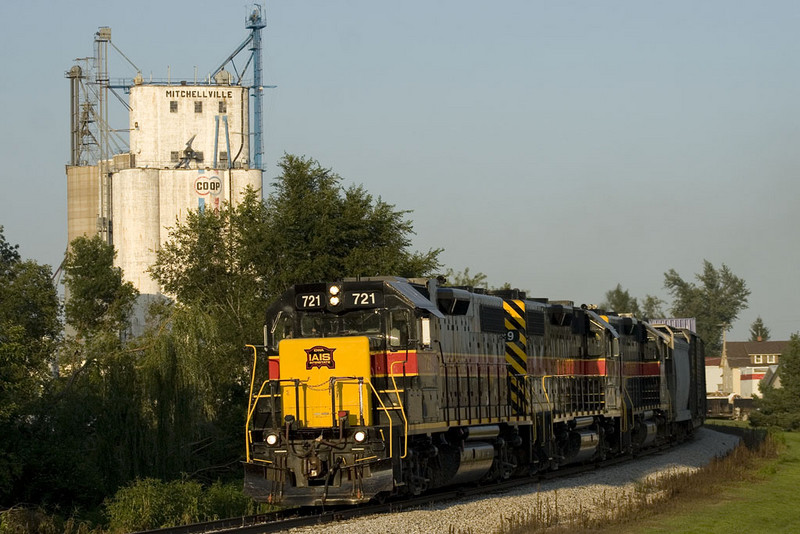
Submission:
[[508,394],[514,415],[526,412],[525,375],[528,372],[528,336],[525,327],[525,302],[504,300],[506,325],[506,372]]

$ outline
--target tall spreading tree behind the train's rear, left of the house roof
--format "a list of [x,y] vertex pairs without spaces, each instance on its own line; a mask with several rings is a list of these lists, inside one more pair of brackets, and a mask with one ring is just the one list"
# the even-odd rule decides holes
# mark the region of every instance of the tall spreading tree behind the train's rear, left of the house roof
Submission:
[[722,352],[722,330],[728,328],[747,308],[750,290],[724,263],[719,269],[703,260],[703,272],[696,274],[699,284],[687,282],[670,269],[664,273],[664,287],[673,297],[675,317],[697,319],[697,333],[705,341],[708,354]]

